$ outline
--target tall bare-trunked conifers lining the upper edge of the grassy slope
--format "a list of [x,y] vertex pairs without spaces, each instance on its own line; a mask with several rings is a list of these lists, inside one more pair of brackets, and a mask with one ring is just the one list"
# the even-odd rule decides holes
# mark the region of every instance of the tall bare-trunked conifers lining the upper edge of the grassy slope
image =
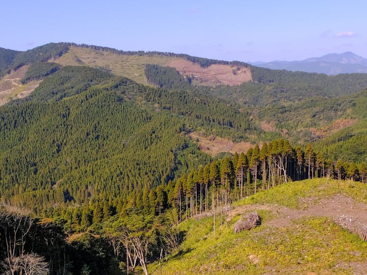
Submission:
[[162,196],[167,201],[155,204],[155,211],[161,211],[161,205],[172,206],[181,218],[187,218],[256,194],[260,189],[318,177],[367,183],[367,169],[365,163],[331,161],[314,152],[311,145],[302,149],[279,139],[182,174],[171,183],[174,188],[166,189],[167,197]]

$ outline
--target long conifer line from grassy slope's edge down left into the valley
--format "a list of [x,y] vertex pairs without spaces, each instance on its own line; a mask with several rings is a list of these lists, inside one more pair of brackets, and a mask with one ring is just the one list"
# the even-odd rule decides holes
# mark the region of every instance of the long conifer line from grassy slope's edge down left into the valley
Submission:
[[246,154],[236,153],[201,165],[157,187],[146,184],[143,189],[132,190],[117,206],[104,200],[84,208],[62,208],[54,214],[70,221],[69,227],[74,230],[107,221],[115,213],[128,216],[131,211],[159,215],[174,208],[178,218],[185,219],[216,211],[259,190],[320,177],[367,183],[367,168],[365,163],[331,161],[311,145],[292,147],[289,141],[279,139],[256,144]]

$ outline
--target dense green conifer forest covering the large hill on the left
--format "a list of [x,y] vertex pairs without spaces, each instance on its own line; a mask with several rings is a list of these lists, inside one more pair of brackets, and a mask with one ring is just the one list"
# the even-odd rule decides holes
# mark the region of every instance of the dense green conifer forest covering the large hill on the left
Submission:
[[[96,86],[101,79],[106,85]],[[97,69],[64,67],[27,101],[1,108],[1,200],[45,213],[103,198],[122,211],[132,190],[208,162],[181,135],[182,118],[125,99],[145,89]]]

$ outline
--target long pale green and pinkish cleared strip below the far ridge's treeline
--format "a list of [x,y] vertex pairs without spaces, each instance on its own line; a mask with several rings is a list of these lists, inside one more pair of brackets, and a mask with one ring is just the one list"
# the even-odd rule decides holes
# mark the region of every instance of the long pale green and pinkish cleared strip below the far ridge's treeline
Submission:
[[[147,84],[144,69],[146,64],[174,67],[183,76],[194,75],[195,84],[201,85],[240,85],[251,80],[249,68],[229,65],[212,65],[202,68],[185,59],[165,56],[124,56],[102,50],[70,47],[70,50],[53,62],[65,65],[87,65],[105,67],[114,74],[133,79],[140,84]],[[235,74],[233,73],[235,71]]]

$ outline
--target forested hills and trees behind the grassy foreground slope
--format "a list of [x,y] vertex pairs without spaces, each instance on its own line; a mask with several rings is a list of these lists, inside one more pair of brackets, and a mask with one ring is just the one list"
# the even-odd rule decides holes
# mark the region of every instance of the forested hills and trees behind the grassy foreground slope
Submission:
[[[29,96],[0,106],[0,241],[27,240],[11,244],[12,256],[7,246],[0,261],[16,272],[27,251],[52,274],[147,273],[148,262],[179,248],[177,224],[189,217],[297,180],[366,182],[367,74],[72,43],[0,49],[0,57],[3,74],[20,76],[17,85],[38,81]],[[200,71],[168,66],[182,60]],[[198,78],[213,65],[226,66],[215,67],[225,81],[228,69],[233,81],[251,79],[205,86]],[[131,68],[143,73],[140,83],[124,76]],[[193,132],[250,146],[210,156]],[[29,230],[15,232],[17,223]]]

